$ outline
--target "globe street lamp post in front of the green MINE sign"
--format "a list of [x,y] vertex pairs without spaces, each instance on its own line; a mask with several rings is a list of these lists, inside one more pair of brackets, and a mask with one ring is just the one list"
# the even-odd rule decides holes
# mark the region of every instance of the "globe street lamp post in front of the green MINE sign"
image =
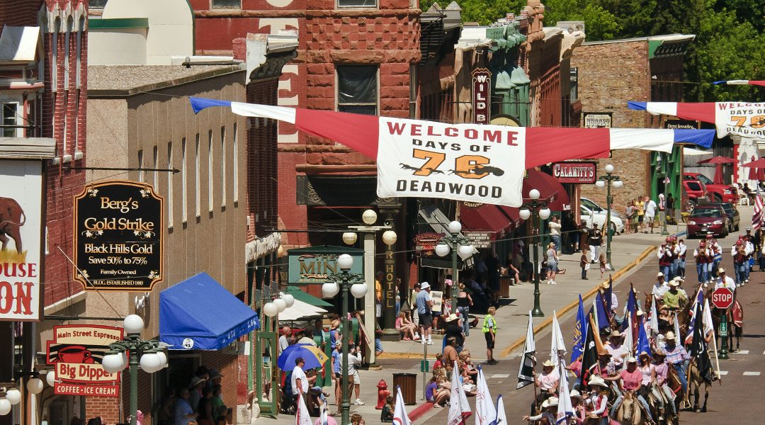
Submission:
[[[341,307],[340,320],[343,326],[343,378],[342,378],[342,411],[343,418],[340,425],[350,423],[350,388],[348,388],[348,338],[350,338],[350,321],[348,320],[348,292],[353,297],[361,298],[366,295],[366,283],[361,274],[350,273],[353,266],[353,257],[347,254],[341,254],[337,257],[337,267],[340,273],[331,273],[327,276],[327,283],[321,285],[321,294],[325,298],[334,297],[337,292],[343,291],[343,305]],[[339,286],[338,286],[339,284]]]

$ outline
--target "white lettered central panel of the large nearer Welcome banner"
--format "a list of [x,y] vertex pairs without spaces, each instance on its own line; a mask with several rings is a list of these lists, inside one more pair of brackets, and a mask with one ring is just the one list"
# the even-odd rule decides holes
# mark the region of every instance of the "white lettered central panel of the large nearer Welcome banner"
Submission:
[[378,196],[522,203],[526,128],[379,120]]

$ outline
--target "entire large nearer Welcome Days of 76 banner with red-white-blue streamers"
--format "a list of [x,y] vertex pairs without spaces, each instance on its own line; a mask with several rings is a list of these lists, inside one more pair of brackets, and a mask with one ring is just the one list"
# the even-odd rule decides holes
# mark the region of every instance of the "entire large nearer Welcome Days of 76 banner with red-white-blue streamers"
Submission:
[[377,161],[377,196],[446,198],[521,206],[525,170],[614,149],[670,152],[675,143],[711,147],[714,131],[446,124],[346,112],[190,98],[194,112],[228,107],[237,115],[294,124]]

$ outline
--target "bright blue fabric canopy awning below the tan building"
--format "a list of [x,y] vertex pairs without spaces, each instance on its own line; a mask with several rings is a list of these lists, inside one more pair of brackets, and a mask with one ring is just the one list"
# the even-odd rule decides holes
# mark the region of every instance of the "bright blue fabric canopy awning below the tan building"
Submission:
[[258,313],[207,273],[159,293],[159,340],[169,349],[219,350],[260,329]]

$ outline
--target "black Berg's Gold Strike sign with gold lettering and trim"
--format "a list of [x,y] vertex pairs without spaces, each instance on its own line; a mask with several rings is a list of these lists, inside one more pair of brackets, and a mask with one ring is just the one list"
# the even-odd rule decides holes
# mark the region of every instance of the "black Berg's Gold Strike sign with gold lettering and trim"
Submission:
[[86,186],[74,198],[74,278],[86,290],[148,291],[162,281],[163,201],[146,183]]

